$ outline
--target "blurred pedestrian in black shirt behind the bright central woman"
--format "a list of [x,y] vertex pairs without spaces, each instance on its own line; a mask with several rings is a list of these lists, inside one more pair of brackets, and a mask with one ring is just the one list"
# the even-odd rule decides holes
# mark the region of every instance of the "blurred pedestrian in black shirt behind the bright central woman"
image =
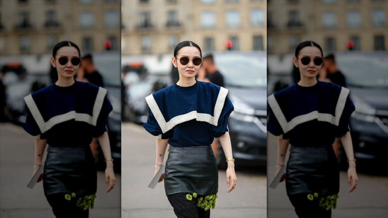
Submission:
[[[203,71],[203,73],[201,76],[198,76],[198,81],[212,83],[221,87],[224,86],[224,78],[214,64],[213,54],[208,54],[202,58],[202,65],[198,74],[200,74],[201,71]],[[213,149],[214,156],[217,157],[218,141],[216,138],[214,138],[213,142],[211,143],[211,149]]]

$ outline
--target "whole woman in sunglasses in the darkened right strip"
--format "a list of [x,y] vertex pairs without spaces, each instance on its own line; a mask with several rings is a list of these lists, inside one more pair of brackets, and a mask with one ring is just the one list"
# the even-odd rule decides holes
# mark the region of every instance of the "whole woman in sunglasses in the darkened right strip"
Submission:
[[[267,129],[279,136],[277,170],[287,164],[287,195],[299,218],[331,217],[339,192],[339,169],[332,144],[340,138],[348,157],[348,185],[357,187],[356,159],[349,132],[354,105],[349,90],[333,83],[317,81],[323,63],[321,47],[312,41],[300,43],[293,63],[300,81],[268,97]],[[276,175],[275,174],[275,175]]]

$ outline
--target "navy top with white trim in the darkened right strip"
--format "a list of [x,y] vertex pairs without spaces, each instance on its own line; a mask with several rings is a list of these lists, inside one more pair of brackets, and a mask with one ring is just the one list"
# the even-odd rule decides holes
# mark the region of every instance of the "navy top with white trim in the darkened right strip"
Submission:
[[331,145],[349,131],[355,110],[349,90],[318,81],[311,87],[294,84],[268,97],[267,130],[294,146]]

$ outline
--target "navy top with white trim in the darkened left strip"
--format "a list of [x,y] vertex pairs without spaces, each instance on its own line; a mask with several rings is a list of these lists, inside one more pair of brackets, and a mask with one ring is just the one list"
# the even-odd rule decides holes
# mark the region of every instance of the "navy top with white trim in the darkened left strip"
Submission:
[[89,145],[102,135],[112,105],[106,89],[75,81],[72,86],[47,86],[26,96],[25,131],[50,146]]

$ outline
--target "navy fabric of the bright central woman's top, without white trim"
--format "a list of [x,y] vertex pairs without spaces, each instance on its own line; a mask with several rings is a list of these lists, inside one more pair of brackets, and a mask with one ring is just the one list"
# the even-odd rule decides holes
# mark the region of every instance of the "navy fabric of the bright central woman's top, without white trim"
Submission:
[[[153,94],[166,122],[170,119],[197,111],[214,115],[214,107],[220,87],[211,83],[196,81],[191,87],[171,85]],[[227,122],[233,105],[226,97],[217,125],[195,119],[180,123],[171,130],[163,133],[151,109],[144,128],[152,135],[162,134],[162,139],[169,139],[172,146],[207,146],[212,143],[214,137],[219,137],[228,131]]]

